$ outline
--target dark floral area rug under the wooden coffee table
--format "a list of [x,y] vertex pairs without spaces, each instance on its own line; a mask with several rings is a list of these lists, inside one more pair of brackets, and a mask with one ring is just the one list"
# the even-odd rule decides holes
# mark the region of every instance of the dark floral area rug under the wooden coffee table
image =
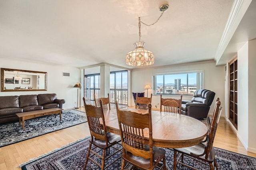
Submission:
[[74,109],[62,111],[60,115],[47,115],[25,121],[24,129],[18,122],[2,124],[0,128],[0,147],[20,142],[50,133],[67,127],[72,127],[80,123],[87,122],[86,114]]

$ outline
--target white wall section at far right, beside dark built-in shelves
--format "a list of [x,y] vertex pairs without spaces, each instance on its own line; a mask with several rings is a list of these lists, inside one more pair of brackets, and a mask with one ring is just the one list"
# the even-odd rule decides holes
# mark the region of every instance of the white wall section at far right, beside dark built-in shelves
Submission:
[[256,153],[256,40],[238,50],[238,130],[237,136],[249,152]]

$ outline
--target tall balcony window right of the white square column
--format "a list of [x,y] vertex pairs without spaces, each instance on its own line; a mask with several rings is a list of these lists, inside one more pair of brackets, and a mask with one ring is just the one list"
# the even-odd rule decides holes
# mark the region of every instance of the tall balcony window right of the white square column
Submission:
[[110,73],[110,102],[128,105],[128,71]]

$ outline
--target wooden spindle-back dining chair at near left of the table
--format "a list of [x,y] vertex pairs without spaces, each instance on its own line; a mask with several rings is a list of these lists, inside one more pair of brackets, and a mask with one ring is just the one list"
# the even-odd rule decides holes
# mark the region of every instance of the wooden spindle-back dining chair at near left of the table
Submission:
[[[105,160],[108,158],[112,157],[114,154],[117,152],[122,151],[122,146],[116,147],[116,144],[121,145],[120,142],[121,138],[119,135],[107,132],[106,130],[106,125],[105,125],[105,119],[104,119],[104,111],[103,111],[103,105],[102,105],[102,100],[100,100],[100,107],[93,106],[93,105],[86,105],[85,99],[84,100],[84,107],[86,110],[86,117],[90,129],[90,144],[88,148],[88,153],[86,156],[86,162],[84,165],[84,170],[86,170],[86,165],[88,163],[88,160],[94,162],[96,165],[98,165],[101,170],[107,169],[108,166],[112,165],[116,160],[121,158],[119,156],[115,160],[113,160],[110,164],[105,166]],[[102,123],[100,123],[100,120],[102,120]],[[92,145],[94,145],[92,147]],[[113,152],[110,154],[110,147],[113,148]],[[102,150],[99,152],[98,149]],[[95,156],[98,156],[99,158],[102,159],[101,164],[99,164],[95,158]]]

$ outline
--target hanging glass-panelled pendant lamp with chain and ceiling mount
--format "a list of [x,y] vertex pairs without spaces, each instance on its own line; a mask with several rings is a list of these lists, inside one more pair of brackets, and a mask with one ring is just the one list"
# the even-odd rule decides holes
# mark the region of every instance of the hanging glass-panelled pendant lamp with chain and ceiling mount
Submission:
[[[159,10],[162,12],[160,17],[164,14],[164,11],[168,9],[168,4],[163,4],[159,7]],[[139,42],[134,43],[135,49],[128,52],[125,57],[125,62],[127,65],[131,66],[144,66],[144,65],[152,65],[155,62],[155,55],[152,51],[144,49],[146,45],[145,42],[140,41],[141,33],[140,33],[140,26],[141,23],[146,26],[151,26],[158,22],[160,17],[152,24],[145,24],[144,22],[140,21],[139,17]]]

